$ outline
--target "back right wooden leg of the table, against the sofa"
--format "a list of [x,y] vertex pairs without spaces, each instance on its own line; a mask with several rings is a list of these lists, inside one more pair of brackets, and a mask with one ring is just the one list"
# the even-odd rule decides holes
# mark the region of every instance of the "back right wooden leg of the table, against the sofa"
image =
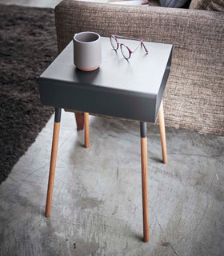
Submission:
[[158,120],[159,120],[159,129],[160,129],[160,137],[162,144],[162,161],[164,163],[167,162],[166,155],[166,131],[165,131],[165,122],[164,122],[164,113],[163,113],[163,103],[161,102],[159,111],[158,111]]

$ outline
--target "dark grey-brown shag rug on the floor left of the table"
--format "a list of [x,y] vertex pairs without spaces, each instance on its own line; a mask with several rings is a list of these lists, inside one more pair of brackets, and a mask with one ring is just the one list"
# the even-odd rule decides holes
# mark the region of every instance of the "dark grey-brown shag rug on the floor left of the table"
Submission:
[[57,53],[53,9],[0,5],[0,184],[53,114],[38,77]]

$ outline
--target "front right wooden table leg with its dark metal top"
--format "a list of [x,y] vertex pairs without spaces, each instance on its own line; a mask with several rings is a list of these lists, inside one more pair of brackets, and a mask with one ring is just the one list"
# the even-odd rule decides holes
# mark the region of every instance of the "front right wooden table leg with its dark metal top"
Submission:
[[147,174],[147,135],[146,122],[140,122],[141,128],[141,160],[142,160],[142,213],[144,242],[149,242],[149,200],[148,200],[148,174]]

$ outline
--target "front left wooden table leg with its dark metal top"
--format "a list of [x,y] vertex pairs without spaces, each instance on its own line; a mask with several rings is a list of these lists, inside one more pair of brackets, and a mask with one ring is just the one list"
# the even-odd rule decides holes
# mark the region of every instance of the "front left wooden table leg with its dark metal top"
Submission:
[[47,189],[47,195],[46,195],[46,210],[45,210],[46,217],[50,217],[50,208],[51,208],[51,201],[52,201],[52,194],[53,194],[53,187],[54,187],[54,173],[55,173],[56,158],[57,158],[57,152],[58,152],[58,136],[59,136],[59,130],[60,130],[61,112],[62,112],[61,108],[55,108],[54,133],[53,133],[53,141],[52,141],[51,157],[50,157],[50,172],[49,172],[48,189]]

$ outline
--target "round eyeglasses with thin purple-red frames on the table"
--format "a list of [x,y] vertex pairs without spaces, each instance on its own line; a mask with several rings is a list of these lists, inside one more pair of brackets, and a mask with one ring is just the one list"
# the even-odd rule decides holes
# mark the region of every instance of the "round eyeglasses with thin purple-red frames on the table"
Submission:
[[124,37],[124,36],[118,35],[118,34],[110,34],[110,43],[111,43],[112,48],[114,50],[118,50],[119,46],[121,46],[121,51],[122,51],[122,55],[124,58],[129,59],[130,55],[133,54],[135,50],[137,50],[138,46],[136,46],[134,50],[130,50],[130,48],[128,46],[126,46],[125,44],[119,43],[117,38],[126,38],[126,39],[132,39],[132,40],[139,41],[138,46],[143,46],[144,49],[146,50],[146,54],[148,54],[148,50],[146,49],[143,39],[141,40],[141,39],[137,39],[137,38]]

